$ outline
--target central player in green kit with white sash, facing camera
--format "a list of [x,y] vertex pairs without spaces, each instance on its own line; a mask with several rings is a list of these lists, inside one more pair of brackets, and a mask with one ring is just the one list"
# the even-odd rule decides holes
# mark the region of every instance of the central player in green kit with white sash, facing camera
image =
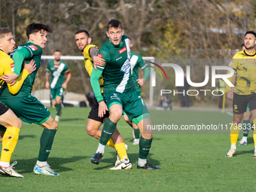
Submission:
[[[125,111],[129,119],[139,126],[142,133],[139,139],[137,168],[160,169],[147,163],[152,142],[152,130],[148,129],[151,126],[151,118],[131,78],[129,39],[123,35],[123,26],[119,20],[112,19],[108,22],[106,34],[109,40],[102,45],[98,53],[99,57],[105,59],[106,64],[103,67],[97,66],[97,70],[93,69],[90,83],[99,102],[99,117],[102,117],[106,110],[109,110],[109,117],[105,121],[102,136],[99,139],[99,147],[96,154],[91,158],[91,162],[100,162],[105,151],[105,145],[114,133],[123,111]],[[98,81],[101,75],[104,80],[105,101],[100,92]],[[114,169],[125,169],[127,166],[130,166],[129,159],[123,160]]]

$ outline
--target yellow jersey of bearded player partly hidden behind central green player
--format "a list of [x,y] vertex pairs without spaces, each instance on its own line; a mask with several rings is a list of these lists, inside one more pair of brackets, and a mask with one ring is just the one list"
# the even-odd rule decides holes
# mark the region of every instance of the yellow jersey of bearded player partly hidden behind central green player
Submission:
[[[87,47],[84,48],[84,66],[89,75],[91,75],[93,72],[93,59],[90,57],[90,54],[89,54],[89,50],[91,47],[96,47],[99,50],[99,48],[94,44],[89,44],[87,45]],[[99,86],[102,93],[103,93],[103,84],[104,84],[103,77],[100,76]]]

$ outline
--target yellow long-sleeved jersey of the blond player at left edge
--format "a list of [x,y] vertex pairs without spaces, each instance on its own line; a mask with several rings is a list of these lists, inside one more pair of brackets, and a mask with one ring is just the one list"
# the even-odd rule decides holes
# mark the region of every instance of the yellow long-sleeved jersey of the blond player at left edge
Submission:
[[[0,76],[9,75],[14,72],[14,60],[5,53],[4,51],[0,50]],[[17,78],[16,83],[13,86],[8,84],[8,89],[10,90],[11,94],[16,94],[19,92],[20,88],[23,85],[24,80],[29,75],[29,72],[26,69],[23,69],[23,72],[20,73],[20,77]],[[0,87],[5,83],[2,79],[0,79]]]

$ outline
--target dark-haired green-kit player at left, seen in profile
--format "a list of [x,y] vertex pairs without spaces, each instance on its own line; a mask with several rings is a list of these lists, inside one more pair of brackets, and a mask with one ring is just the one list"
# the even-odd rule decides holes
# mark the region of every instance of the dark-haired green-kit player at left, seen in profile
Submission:
[[21,120],[26,123],[36,123],[44,128],[40,139],[38,160],[34,167],[35,174],[59,175],[53,172],[47,163],[58,123],[51,117],[50,111],[31,95],[35,75],[41,65],[41,54],[47,41],[47,32],[52,32],[50,26],[41,23],[31,23],[27,26],[26,35],[29,41],[17,47],[14,53],[14,74],[8,75],[5,80],[11,82],[20,76],[24,59],[26,63],[33,59],[36,70],[26,78],[23,87],[16,95],[12,95],[7,87],[2,87],[0,101],[11,108]]

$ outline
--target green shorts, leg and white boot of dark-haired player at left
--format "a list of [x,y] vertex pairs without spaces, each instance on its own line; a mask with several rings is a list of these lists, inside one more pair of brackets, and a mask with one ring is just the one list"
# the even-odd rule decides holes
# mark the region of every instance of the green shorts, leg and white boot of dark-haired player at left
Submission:
[[58,127],[58,123],[50,116],[50,111],[41,104],[34,96],[17,97],[7,99],[8,105],[26,123],[36,123],[44,127],[40,139],[40,150],[38,161],[35,164],[34,172],[42,175],[58,175],[50,169],[47,157],[53,145],[53,139]]

